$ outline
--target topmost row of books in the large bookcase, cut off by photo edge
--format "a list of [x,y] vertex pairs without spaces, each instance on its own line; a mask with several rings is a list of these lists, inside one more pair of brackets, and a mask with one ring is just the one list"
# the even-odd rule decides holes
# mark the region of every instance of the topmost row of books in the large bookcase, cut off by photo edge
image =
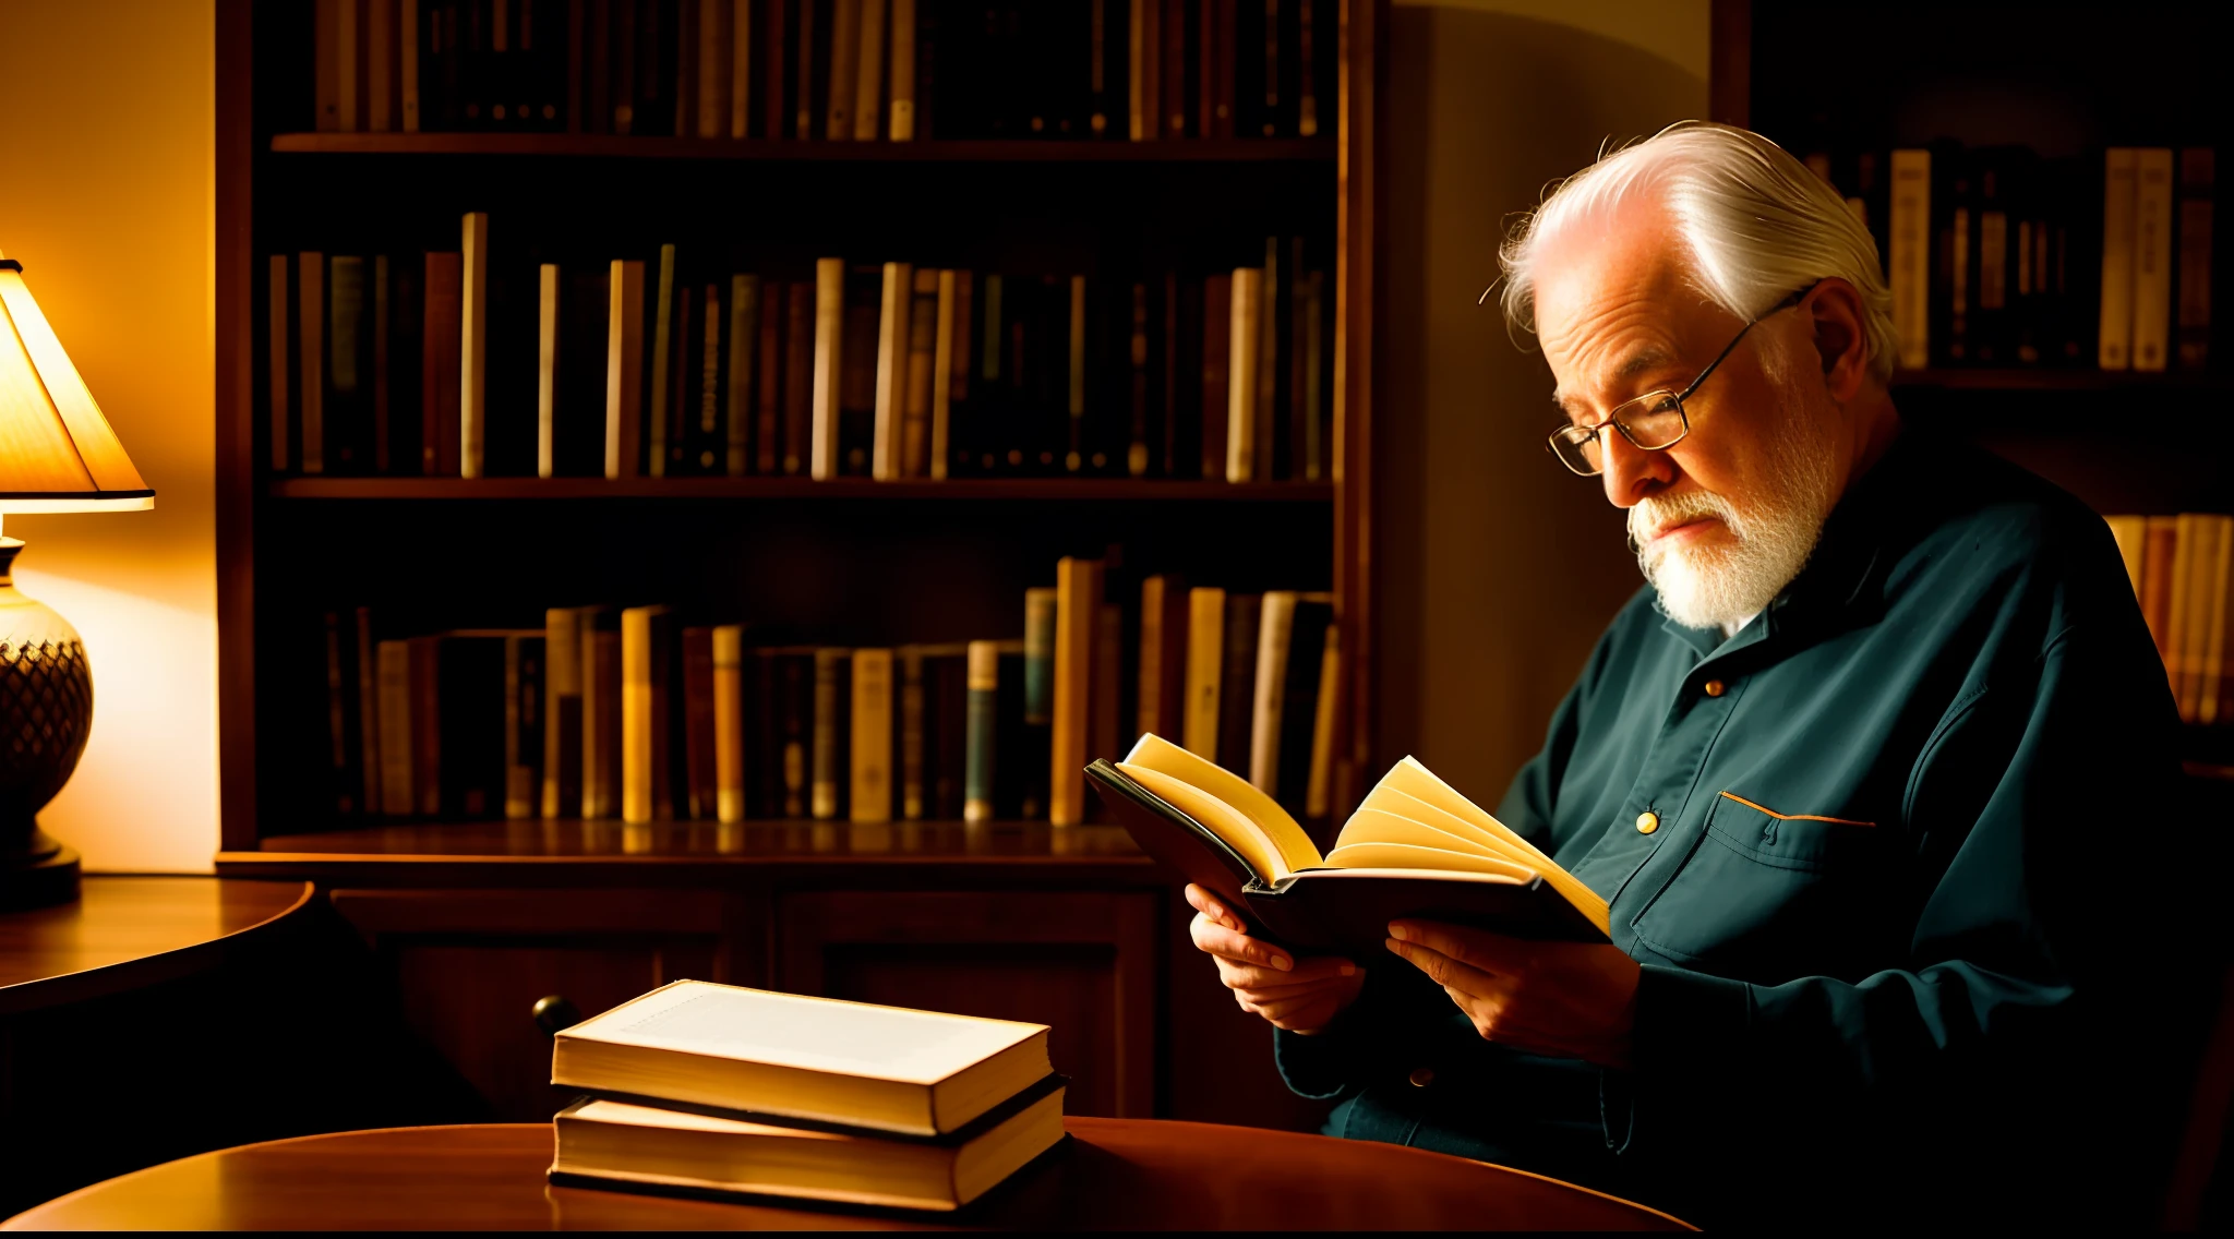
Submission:
[[319,132],[1309,138],[1334,0],[317,0]]

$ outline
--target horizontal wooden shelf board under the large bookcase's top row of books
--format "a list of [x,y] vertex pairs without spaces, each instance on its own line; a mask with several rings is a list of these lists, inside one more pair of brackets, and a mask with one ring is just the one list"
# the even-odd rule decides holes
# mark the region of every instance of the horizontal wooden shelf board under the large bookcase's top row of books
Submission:
[[273,134],[275,154],[516,154],[771,163],[1334,163],[1334,138],[923,141],[623,138],[612,134]]

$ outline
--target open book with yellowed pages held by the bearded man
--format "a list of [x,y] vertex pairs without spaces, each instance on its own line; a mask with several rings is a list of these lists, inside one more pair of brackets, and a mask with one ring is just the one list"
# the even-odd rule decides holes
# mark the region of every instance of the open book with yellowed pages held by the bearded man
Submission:
[[1606,900],[1410,757],[1327,855],[1269,795],[1162,737],[1086,775],[1142,851],[1296,951],[1376,960],[1398,918],[1606,940]]

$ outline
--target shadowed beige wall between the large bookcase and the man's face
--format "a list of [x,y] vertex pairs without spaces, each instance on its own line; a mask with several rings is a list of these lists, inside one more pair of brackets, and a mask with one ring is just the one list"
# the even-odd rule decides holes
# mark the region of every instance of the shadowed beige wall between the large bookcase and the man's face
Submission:
[[1394,9],[1381,491],[1383,759],[1495,804],[1640,585],[1546,451],[1550,371],[1474,299],[1508,217],[1600,145],[1707,112],[1707,0]]

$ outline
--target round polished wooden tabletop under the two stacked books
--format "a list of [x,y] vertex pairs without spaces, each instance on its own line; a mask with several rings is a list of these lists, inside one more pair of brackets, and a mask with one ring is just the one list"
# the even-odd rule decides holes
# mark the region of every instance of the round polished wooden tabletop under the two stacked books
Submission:
[[556,1188],[547,1123],[389,1127],[188,1156],[4,1230],[1689,1230],[1479,1161],[1157,1118],[1066,1118],[1070,1145],[954,1217]]

